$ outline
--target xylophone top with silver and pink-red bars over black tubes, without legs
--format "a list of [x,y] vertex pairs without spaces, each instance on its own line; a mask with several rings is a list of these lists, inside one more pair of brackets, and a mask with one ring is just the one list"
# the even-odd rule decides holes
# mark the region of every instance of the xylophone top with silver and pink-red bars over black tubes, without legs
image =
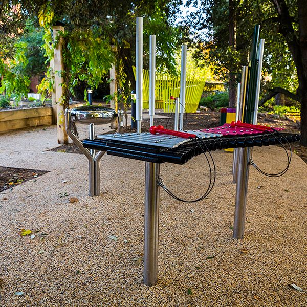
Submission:
[[[259,126],[251,127],[231,126],[225,124],[220,127],[184,131],[184,133],[198,136],[203,140],[200,146],[191,139],[182,137],[182,131],[168,130],[158,134],[125,133],[114,135],[98,135],[94,140],[83,141],[85,148],[106,151],[108,155],[142,160],[153,163],[184,164],[192,157],[200,155],[204,151],[239,147],[261,147],[276,144],[296,142],[299,135],[278,133],[281,128]],[[172,135],[167,134],[172,131]]]

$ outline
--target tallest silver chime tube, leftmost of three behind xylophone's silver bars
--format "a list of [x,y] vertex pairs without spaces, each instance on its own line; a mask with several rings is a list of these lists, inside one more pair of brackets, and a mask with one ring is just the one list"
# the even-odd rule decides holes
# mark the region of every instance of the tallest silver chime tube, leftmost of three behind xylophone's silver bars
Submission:
[[136,36],[136,120],[138,133],[141,132],[141,122],[143,119],[143,17],[137,17],[137,36]]

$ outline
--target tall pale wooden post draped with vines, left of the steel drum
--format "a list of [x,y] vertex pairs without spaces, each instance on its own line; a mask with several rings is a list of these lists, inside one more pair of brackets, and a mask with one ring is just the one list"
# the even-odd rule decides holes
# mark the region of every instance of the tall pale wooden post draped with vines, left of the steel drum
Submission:
[[[54,40],[58,37],[58,32],[64,32],[64,27],[62,26],[53,26],[53,38]],[[65,118],[64,111],[65,105],[62,103],[63,89],[60,84],[64,83],[63,78],[61,77],[61,71],[64,70],[63,56],[62,56],[62,45],[63,38],[60,37],[57,46],[54,48],[54,88],[55,88],[55,97],[56,97],[56,114],[57,114],[57,138],[58,144],[68,144],[68,135],[65,129]]]

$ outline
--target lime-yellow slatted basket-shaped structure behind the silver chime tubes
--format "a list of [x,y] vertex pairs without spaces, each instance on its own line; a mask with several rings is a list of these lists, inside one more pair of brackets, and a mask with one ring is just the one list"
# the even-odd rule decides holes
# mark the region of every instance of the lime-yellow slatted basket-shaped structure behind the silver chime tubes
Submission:
[[[136,78],[136,68],[133,67]],[[199,105],[205,87],[205,81],[186,81],[186,104],[187,113],[195,113]],[[164,112],[172,112],[174,100],[170,96],[179,97],[180,77],[168,74],[156,74],[156,109],[163,109]],[[143,70],[143,109],[149,108],[149,71]]]

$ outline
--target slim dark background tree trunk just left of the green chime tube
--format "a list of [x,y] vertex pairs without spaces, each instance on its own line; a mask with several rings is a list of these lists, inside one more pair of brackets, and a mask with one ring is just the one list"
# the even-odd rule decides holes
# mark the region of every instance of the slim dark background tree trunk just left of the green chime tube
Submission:
[[[235,0],[229,0],[229,46],[235,49]],[[229,72],[229,107],[236,106],[236,77]]]

